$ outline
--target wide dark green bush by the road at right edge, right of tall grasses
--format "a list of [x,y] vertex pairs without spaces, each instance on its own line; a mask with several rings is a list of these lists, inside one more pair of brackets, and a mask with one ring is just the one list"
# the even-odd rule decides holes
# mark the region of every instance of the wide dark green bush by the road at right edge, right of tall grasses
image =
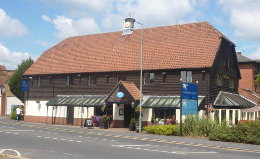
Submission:
[[260,144],[260,121],[238,123],[237,126],[214,129],[210,140]]

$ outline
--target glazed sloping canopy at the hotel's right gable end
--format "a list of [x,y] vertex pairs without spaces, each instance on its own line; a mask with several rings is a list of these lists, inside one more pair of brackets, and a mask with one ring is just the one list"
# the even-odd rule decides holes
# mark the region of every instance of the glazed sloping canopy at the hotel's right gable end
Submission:
[[255,105],[256,103],[239,94],[222,92],[222,91],[219,92],[214,102],[214,106],[216,107],[229,107],[229,108],[252,107]]

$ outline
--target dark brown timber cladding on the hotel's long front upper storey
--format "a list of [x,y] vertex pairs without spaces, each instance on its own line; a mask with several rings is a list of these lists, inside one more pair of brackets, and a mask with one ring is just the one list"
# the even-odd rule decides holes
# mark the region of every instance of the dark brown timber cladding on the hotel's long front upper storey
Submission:
[[[206,69],[203,69],[206,70]],[[191,70],[192,81],[199,82],[199,95],[207,95],[208,73],[202,70]],[[146,71],[145,71],[146,72]],[[179,95],[180,70],[161,70],[154,72],[154,84],[143,85],[143,95]],[[166,81],[162,72],[166,72]],[[109,83],[107,76],[109,74]],[[126,72],[126,81],[133,82],[140,89],[140,73]],[[55,76],[54,97],[57,95],[108,95],[117,85],[116,73],[96,73],[96,86],[88,85],[88,74],[73,75],[73,86],[66,86],[66,75]],[[37,86],[37,77],[32,76],[29,82],[28,100],[51,100],[53,97],[53,80],[47,76],[41,76],[41,86]],[[144,80],[143,80],[144,81]],[[25,92],[25,100],[27,92]]]

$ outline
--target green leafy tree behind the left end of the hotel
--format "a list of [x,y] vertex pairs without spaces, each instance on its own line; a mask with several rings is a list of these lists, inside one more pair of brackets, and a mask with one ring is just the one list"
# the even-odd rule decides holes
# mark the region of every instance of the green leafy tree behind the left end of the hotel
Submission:
[[15,69],[13,75],[10,77],[8,85],[10,91],[22,102],[24,102],[24,92],[22,92],[22,80],[24,79],[22,74],[34,63],[30,57],[26,60],[22,60],[22,63]]

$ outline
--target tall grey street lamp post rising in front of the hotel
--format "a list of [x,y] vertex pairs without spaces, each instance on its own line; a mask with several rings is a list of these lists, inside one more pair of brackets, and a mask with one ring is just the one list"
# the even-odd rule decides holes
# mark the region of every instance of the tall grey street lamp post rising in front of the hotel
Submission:
[[142,133],[142,79],[143,79],[143,28],[144,24],[137,22],[134,18],[131,17],[131,14],[129,12],[129,16],[125,19],[125,22],[130,22],[130,23],[138,23],[142,25],[141,29],[141,65],[140,65],[140,110],[139,110],[139,127],[140,131],[139,133]]

